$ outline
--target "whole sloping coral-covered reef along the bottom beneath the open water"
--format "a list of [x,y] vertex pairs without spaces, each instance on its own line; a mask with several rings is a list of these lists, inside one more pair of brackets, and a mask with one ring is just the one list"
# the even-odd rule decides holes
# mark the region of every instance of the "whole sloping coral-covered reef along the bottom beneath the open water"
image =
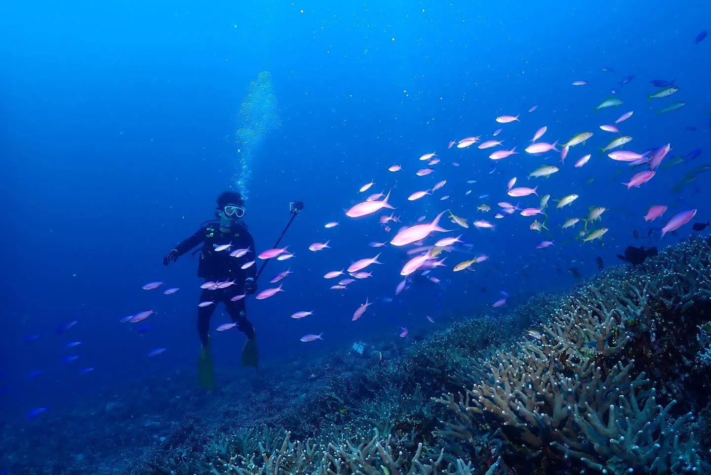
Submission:
[[220,374],[235,383],[212,394],[193,375],[141,381],[5,425],[0,462],[11,474],[711,473],[710,251],[690,239],[506,315]]

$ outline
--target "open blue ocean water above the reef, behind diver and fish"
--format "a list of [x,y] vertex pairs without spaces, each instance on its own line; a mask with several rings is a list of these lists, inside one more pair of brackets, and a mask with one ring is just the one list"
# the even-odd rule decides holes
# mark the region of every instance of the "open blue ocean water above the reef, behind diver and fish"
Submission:
[[[194,371],[202,281],[188,256],[169,267],[161,260],[213,217],[215,198],[235,186],[247,150],[252,178],[245,222],[258,250],[274,244],[290,217],[289,202],[305,203],[282,241],[296,256],[270,261],[259,282],[263,290],[269,287],[264,277],[291,266],[284,293],[247,302],[264,361],[348,347],[380,334],[398,339],[401,327],[428,324],[426,315],[437,320],[454,310],[491,307],[500,290],[511,295],[510,306],[569,288],[576,281],[570,268],[593,275],[598,256],[606,266],[619,264],[616,254],[628,245],[675,244],[693,231],[690,223],[661,239],[658,228],[674,214],[697,209],[693,222],[711,218],[707,175],[688,175],[707,163],[711,145],[705,77],[711,43],[694,42],[709,28],[707,18],[711,7],[698,2],[642,1],[0,6],[2,418],[40,407],[62,411],[105,388],[177,368]],[[271,77],[280,126],[245,146],[236,135],[245,124],[240,108],[260,100],[248,93],[261,72]],[[619,86],[628,75],[635,77]],[[659,90],[649,83],[655,79],[675,80],[680,91],[649,100]],[[574,80],[589,85],[575,87]],[[596,111],[613,88],[624,104]],[[657,114],[677,101],[685,107]],[[621,185],[633,175],[629,166],[597,149],[616,136],[598,126],[625,111],[634,111],[619,124],[634,137],[626,149],[673,148],[656,176],[631,190]],[[497,124],[503,114],[520,114],[520,122]],[[547,126],[542,140],[551,143],[582,131],[594,136],[572,148],[561,166],[558,154],[523,152],[541,126]],[[493,149],[447,148],[466,136],[492,138],[500,127],[497,138],[506,148],[516,146],[518,155],[494,162],[487,153]],[[698,158],[665,168],[697,148]],[[434,173],[415,175],[425,166],[417,158],[432,152],[442,160]],[[589,163],[574,168],[585,153],[592,154]],[[526,179],[544,163],[561,170],[550,179]],[[389,172],[395,164],[402,171]],[[520,186],[538,185],[552,200],[580,197],[558,212],[550,205],[550,232],[531,231],[533,218],[518,213],[495,220],[500,201],[538,206],[535,197],[506,195],[513,177]],[[685,178],[695,180],[673,188]],[[359,193],[371,180],[375,185]],[[447,185],[434,195],[407,200],[439,180]],[[391,223],[390,232],[378,222],[382,213],[344,214],[368,193],[388,190],[401,222]],[[439,200],[443,195],[449,200]],[[491,211],[477,211],[481,204]],[[668,210],[646,224],[643,215],[653,204]],[[582,223],[570,232],[560,229],[568,217],[583,218],[597,206],[609,208],[602,241],[575,240]],[[447,267],[432,271],[442,288],[427,284],[395,297],[405,251],[368,243],[390,240],[400,226],[422,215],[430,222],[445,209],[470,223],[496,221],[496,228],[459,229],[443,219],[454,232],[438,239],[463,234],[473,246],[446,253]],[[331,221],[340,224],[324,229]],[[545,239],[555,244],[536,249]],[[309,251],[316,241],[329,241],[333,249]],[[329,289],[333,283],[324,273],[381,251],[383,265],[371,267],[373,278],[343,292]],[[489,258],[476,271],[452,273],[454,264],[480,253]],[[166,283],[161,290],[181,290],[163,295],[141,289],[154,280]],[[366,297],[375,303],[351,322]],[[119,323],[151,309],[156,315],[144,321],[153,326],[146,334],[136,332],[137,324]],[[299,310],[314,315],[289,318]],[[68,332],[55,333],[73,320],[78,323]],[[211,327],[226,322],[220,307]],[[323,342],[299,341],[322,332]],[[33,335],[38,337],[26,342]],[[82,343],[64,347],[74,341]],[[236,330],[213,332],[215,365],[236,366],[243,341]],[[166,351],[146,356],[156,348]],[[72,355],[79,358],[62,362]],[[83,368],[94,370],[82,374]],[[33,371],[42,373],[28,377]]]

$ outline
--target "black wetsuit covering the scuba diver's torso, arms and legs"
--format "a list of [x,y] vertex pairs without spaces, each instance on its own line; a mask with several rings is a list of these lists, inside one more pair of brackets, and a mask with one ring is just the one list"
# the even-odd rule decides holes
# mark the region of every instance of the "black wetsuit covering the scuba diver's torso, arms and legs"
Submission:
[[[203,346],[208,346],[208,333],[210,332],[210,317],[215,312],[215,306],[223,302],[230,314],[232,322],[237,324],[240,332],[244,333],[248,339],[255,337],[255,329],[252,323],[247,320],[247,310],[245,299],[236,302],[230,300],[235,295],[245,293],[245,280],[254,278],[257,274],[255,265],[247,269],[242,269],[242,265],[255,260],[255,241],[252,234],[247,231],[247,226],[238,222],[232,225],[229,232],[220,231],[219,222],[208,222],[205,226],[190,236],[185,241],[175,247],[178,256],[190,251],[198,244],[203,243],[200,252],[200,263],[198,264],[198,277],[205,279],[205,282],[225,282],[225,280],[235,280],[235,283],[227,288],[218,290],[203,289],[198,302],[215,302],[214,305],[198,307],[198,334]],[[223,244],[230,244],[224,251],[215,251],[215,248]],[[230,256],[236,249],[249,249],[244,256],[235,258]]]

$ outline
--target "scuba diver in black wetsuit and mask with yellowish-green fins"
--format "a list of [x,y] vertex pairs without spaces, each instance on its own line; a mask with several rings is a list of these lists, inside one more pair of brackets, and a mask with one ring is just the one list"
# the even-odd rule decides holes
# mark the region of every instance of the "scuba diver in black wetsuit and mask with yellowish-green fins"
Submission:
[[[203,291],[198,302],[198,334],[201,351],[198,359],[198,381],[201,386],[213,390],[215,373],[210,356],[210,317],[215,306],[222,302],[230,319],[240,332],[247,337],[242,349],[242,366],[259,366],[259,354],[255,339],[255,329],[247,320],[245,295],[257,290],[254,264],[243,268],[245,263],[255,260],[255,242],[242,222],[245,204],[242,195],[237,192],[223,192],[217,199],[215,217],[201,224],[200,229],[188,239],[178,244],[163,258],[163,265],[202,244],[191,256],[200,252],[198,277],[205,279],[201,285]],[[246,250],[246,251],[245,251]],[[239,257],[236,257],[239,256]],[[209,303],[208,303],[209,302]]]

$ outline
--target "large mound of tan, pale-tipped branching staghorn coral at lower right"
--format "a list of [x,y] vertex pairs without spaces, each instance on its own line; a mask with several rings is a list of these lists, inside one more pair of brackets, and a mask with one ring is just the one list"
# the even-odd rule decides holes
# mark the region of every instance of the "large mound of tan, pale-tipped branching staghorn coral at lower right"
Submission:
[[493,422],[511,449],[561,467],[572,459],[601,471],[614,462],[615,470],[670,473],[688,459],[693,469],[707,469],[693,434],[684,432],[693,415],[675,413],[673,399],[656,403],[641,371],[651,363],[648,351],[645,364],[628,355],[665,318],[683,322],[670,339],[692,339],[686,329],[699,317],[690,310],[711,295],[708,251],[706,241],[693,239],[653,261],[653,273],[612,271],[563,301],[540,334],[472,361],[471,389],[436,399],[454,420],[435,434],[472,443]]

